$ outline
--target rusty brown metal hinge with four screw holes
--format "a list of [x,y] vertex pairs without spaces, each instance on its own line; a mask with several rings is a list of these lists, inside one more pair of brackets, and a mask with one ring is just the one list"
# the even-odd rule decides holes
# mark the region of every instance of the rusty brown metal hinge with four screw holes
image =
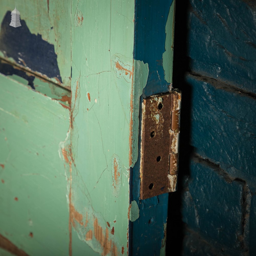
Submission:
[[141,199],[176,190],[180,106],[178,90],[143,100]]

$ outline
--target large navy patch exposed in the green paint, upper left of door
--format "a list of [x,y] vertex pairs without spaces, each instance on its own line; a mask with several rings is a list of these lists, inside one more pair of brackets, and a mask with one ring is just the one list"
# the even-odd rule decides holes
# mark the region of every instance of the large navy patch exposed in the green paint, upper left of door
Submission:
[[31,34],[25,20],[20,20],[21,27],[9,26],[10,18],[8,11],[1,24],[0,50],[20,65],[49,78],[56,77],[62,83],[54,45],[43,40],[40,34]]

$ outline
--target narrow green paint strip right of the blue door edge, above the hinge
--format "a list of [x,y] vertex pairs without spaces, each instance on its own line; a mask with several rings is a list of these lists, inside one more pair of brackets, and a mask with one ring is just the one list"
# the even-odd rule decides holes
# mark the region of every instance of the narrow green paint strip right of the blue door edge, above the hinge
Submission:
[[167,83],[173,82],[173,45],[174,45],[175,0],[170,6],[165,26],[165,52],[163,53],[164,79]]

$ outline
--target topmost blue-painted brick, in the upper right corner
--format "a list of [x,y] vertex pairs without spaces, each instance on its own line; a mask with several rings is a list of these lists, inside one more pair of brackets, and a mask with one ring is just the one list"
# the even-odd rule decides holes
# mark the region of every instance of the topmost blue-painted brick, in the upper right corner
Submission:
[[188,56],[193,72],[255,93],[256,19],[250,2],[190,0]]

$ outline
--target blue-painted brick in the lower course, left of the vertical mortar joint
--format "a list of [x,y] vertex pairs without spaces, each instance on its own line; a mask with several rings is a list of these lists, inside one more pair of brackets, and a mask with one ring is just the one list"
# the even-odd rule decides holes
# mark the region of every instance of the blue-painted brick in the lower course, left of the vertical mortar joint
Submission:
[[183,193],[183,221],[189,228],[200,230],[206,240],[231,251],[246,251],[244,186],[222,174],[218,167],[194,158]]

